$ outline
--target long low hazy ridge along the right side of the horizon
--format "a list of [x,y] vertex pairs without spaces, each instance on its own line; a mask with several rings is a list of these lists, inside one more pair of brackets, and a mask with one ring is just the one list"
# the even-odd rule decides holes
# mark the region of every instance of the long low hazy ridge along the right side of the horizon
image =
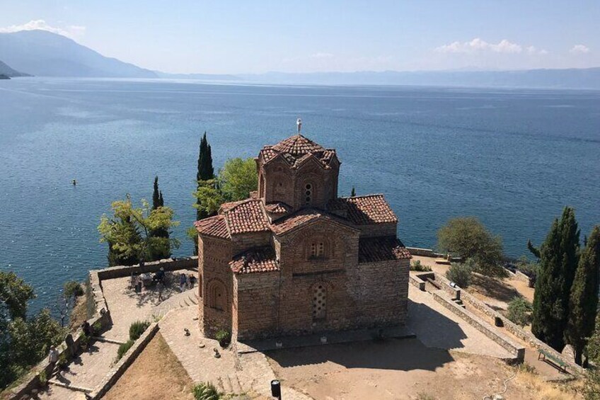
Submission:
[[241,75],[269,84],[415,85],[520,88],[600,89],[600,67],[587,69],[529,69],[524,71],[316,72],[312,74]]

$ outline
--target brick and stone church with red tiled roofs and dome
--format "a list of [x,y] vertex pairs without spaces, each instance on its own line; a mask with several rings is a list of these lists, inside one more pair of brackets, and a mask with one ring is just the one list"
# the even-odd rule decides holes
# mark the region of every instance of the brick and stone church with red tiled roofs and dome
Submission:
[[383,195],[338,197],[335,149],[302,135],[255,160],[258,191],[195,223],[204,334],[225,328],[243,341],[404,324],[410,253]]

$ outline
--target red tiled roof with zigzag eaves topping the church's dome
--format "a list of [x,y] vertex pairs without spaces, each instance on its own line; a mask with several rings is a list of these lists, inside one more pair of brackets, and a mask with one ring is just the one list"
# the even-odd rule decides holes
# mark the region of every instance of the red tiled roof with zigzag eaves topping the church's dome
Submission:
[[331,168],[330,162],[335,157],[335,149],[325,149],[311,139],[302,135],[294,135],[283,139],[273,146],[265,146],[260,156],[265,164],[281,155],[292,168],[298,168],[308,159],[315,158],[324,168]]

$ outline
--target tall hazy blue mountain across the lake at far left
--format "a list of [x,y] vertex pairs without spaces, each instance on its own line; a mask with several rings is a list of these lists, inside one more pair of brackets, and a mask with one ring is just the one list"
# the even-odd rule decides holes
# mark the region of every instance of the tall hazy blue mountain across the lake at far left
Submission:
[[36,76],[157,78],[149,69],[104,57],[74,40],[45,30],[0,33],[0,59]]

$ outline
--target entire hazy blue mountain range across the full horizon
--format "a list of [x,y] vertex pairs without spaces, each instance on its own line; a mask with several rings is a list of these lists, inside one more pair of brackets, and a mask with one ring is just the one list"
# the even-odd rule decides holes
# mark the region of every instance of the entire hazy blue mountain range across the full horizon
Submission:
[[[315,72],[294,74],[167,74],[105,57],[45,30],[0,33],[0,74],[7,76],[197,79],[250,84],[414,85],[600,89],[600,67],[523,71]],[[6,63],[6,64],[4,64]],[[10,67],[8,67],[8,65]]]

